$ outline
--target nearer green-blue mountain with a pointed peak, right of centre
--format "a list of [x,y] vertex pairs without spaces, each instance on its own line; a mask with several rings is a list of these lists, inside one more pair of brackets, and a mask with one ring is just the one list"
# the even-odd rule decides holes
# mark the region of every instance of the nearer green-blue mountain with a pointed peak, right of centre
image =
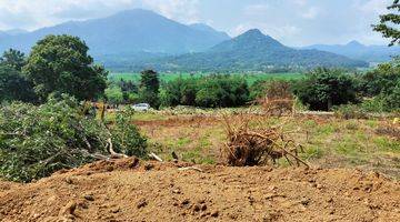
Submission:
[[253,29],[206,52],[158,59],[138,68],[171,71],[266,71],[320,65],[357,68],[367,67],[368,63],[331,52],[296,50]]

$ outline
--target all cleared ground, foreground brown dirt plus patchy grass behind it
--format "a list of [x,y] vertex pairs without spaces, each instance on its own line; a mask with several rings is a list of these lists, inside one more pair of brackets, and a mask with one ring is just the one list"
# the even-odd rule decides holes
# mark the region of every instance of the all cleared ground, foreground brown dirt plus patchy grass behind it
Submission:
[[[303,144],[311,168],[218,164],[222,114],[242,109],[136,113],[170,162],[99,161],[18,184],[0,181],[0,221],[397,221],[400,138],[390,120],[300,114],[263,118]],[[107,120],[112,121],[112,112]],[[252,125],[250,123],[250,125]],[[179,161],[172,161],[174,151]]]

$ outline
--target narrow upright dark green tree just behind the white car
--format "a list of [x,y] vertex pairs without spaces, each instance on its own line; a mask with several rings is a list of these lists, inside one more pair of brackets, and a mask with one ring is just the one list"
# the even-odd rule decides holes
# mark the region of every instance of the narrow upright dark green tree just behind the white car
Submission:
[[160,107],[159,90],[160,80],[158,73],[153,70],[142,71],[139,88],[140,101],[158,109]]

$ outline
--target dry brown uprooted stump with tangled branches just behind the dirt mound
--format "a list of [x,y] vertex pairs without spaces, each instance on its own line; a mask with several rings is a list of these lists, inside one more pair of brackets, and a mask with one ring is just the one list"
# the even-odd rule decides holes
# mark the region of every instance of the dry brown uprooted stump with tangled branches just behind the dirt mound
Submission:
[[284,158],[290,165],[293,165],[294,161],[298,167],[308,167],[298,155],[302,147],[288,137],[289,132],[284,133],[281,127],[250,129],[251,119],[240,115],[240,119],[232,123],[232,119],[224,117],[228,141],[222,155],[228,165],[276,164],[277,160]]

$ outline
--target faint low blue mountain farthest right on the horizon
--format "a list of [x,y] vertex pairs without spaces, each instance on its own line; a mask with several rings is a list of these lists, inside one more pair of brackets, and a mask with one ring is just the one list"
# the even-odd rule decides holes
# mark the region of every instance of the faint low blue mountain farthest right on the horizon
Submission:
[[384,62],[389,61],[391,57],[400,54],[400,47],[364,46],[358,41],[347,44],[314,44],[303,49],[322,50],[368,62]]

